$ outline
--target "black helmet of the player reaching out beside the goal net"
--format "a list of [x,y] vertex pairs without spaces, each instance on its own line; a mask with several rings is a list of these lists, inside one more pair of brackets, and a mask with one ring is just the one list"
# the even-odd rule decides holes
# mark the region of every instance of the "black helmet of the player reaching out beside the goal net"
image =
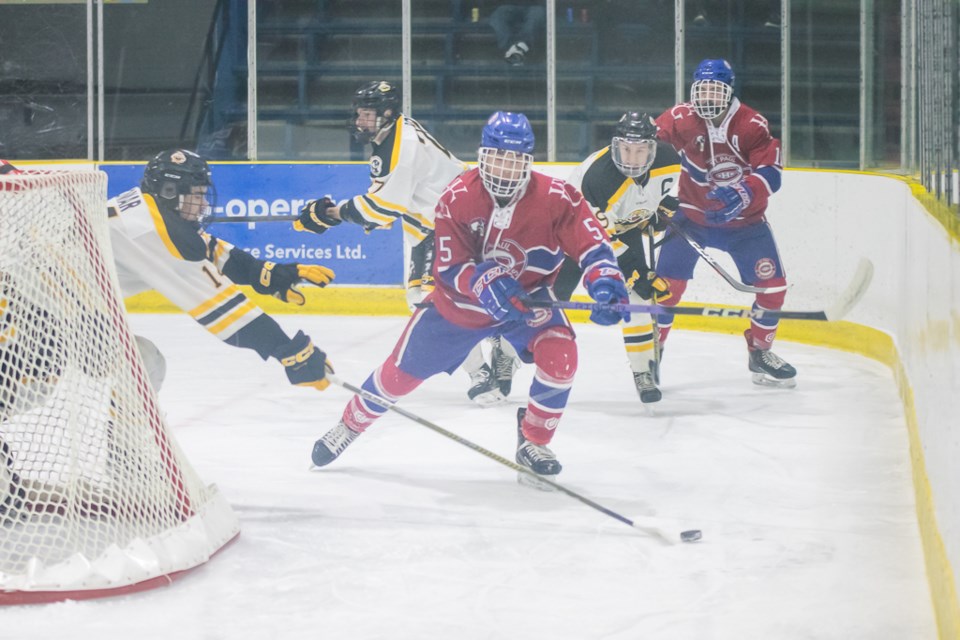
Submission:
[[[197,196],[194,187],[206,187],[203,204],[200,199],[184,202],[185,196]],[[140,189],[152,195],[161,208],[193,222],[202,222],[210,214],[216,193],[206,160],[186,149],[168,149],[154,156],[143,172]]]

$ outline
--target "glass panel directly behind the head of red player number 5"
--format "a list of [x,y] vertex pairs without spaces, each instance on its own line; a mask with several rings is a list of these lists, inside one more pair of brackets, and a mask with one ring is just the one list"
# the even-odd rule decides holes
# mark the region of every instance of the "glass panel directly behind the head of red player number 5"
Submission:
[[535,157],[547,157],[546,3],[507,4],[412,2],[412,115],[465,162],[501,110],[526,114]]

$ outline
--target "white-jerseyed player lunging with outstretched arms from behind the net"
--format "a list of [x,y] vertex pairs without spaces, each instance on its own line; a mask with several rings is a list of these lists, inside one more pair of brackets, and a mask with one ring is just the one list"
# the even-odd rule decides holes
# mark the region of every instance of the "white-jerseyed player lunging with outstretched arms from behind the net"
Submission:
[[[171,149],[147,164],[139,188],[107,203],[123,295],[156,289],[227,344],[278,360],[291,384],[325,389],[332,368],[323,351],[303,331],[290,338],[237,284],[302,305],[305,297],[297,285],[326,286],[333,271],[258,260],[210,235],[202,223],[214,193],[206,161]],[[144,355],[148,369],[157,366]],[[156,357],[162,358],[159,352]]]

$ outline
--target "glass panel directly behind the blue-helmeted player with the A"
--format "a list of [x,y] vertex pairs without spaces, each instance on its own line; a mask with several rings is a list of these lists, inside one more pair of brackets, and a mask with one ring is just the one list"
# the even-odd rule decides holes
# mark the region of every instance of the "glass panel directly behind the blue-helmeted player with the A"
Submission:
[[684,100],[700,61],[723,58],[736,76],[734,95],[767,118],[775,137],[782,137],[780,0],[691,0],[685,11]]

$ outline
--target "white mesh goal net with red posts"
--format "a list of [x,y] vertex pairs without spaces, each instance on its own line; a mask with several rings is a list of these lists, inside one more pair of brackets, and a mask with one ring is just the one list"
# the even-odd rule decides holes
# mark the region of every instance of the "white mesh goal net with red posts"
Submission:
[[166,584],[238,532],[148,381],[106,175],[0,176],[0,604]]

